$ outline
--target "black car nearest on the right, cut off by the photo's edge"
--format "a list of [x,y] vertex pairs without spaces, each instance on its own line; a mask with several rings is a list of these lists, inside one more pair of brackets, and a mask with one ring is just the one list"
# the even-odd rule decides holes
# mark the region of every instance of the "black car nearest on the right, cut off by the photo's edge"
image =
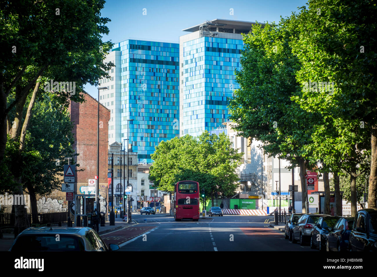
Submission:
[[349,235],[349,251],[377,251],[377,209],[357,211]]

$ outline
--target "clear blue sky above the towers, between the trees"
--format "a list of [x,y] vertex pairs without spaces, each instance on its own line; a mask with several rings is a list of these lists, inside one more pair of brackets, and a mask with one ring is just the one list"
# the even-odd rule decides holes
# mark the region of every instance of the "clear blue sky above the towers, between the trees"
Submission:
[[[103,41],[117,43],[128,38],[177,42],[187,34],[182,29],[216,18],[242,21],[278,22],[297,12],[307,0],[217,0],[217,1],[164,1],[164,0],[109,0],[101,11],[110,18],[109,35]],[[146,15],[143,15],[146,12]],[[233,15],[230,15],[233,9]],[[97,99],[98,90],[87,84],[85,91]]]

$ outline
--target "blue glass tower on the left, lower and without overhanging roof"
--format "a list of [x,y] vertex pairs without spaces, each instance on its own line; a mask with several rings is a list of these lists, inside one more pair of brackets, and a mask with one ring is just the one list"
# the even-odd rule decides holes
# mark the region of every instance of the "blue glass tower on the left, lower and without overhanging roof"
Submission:
[[179,136],[179,44],[125,40],[112,51],[121,53],[121,142],[150,164],[159,142]]

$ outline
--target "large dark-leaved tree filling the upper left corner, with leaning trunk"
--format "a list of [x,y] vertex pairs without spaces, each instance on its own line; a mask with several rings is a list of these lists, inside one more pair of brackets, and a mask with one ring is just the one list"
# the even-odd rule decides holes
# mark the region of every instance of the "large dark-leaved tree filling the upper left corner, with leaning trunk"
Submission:
[[[13,175],[14,194],[23,193],[20,167],[25,158],[26,131],[41,84],[50,79],[75,82],[77,93],[67,89],[55,92],[59,101],[67,104],[69,99],[83,101],[78,92],[84,84],[98,84],[100,77],[108,76],[105,70],[113,64],[103,64],[103,60],[113,44],[101,40],[101,34],[109,33],[105,26],[109,19],[100,14],[104,3],[104,0],[0,3],[0,166],[12,165],[7,170]],[[14,120],[9,117],[13,109]],[[15,143],[8,144],[7,135]],[[14,151],[16,146],[18,152]],[[5,157],[5,151],[12,155]],[[15,217],[19,231],[29,226],[23,205],[15,205]]]

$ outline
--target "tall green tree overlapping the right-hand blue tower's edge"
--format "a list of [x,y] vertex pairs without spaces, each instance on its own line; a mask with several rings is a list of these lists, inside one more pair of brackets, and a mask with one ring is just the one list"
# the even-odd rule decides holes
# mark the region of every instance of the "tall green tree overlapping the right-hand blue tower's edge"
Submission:
[[312,143],[316,113],[305,112],[291,100],[300,90],[295,78],[300,63],[289,45],[296,33],[293,15],[279,24],[257,24],[244,35],[242,69],[236,71],[240,89],[234,91],[229,109],[230,119],[237,122],[234,129],[242,136],[258,139],[264,152],[287,159],[291,168],[300,167],[305,211],[304,176],[315,164],[307,145]]

